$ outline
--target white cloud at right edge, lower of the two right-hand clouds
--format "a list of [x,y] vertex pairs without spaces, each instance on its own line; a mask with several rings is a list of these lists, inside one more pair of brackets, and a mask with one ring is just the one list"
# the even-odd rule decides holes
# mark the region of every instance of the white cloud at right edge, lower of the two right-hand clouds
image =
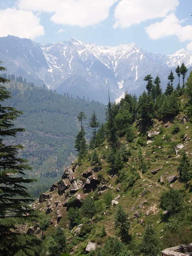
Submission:
[[[153,40],[175,35],[180,42],[192,41],[192,25],[182,26],[182,23],[183,20],[179,20],[172,13],[161,22],[151,24],[145,31]],[[188,49],[192,49],[192,43],[188,44]]]

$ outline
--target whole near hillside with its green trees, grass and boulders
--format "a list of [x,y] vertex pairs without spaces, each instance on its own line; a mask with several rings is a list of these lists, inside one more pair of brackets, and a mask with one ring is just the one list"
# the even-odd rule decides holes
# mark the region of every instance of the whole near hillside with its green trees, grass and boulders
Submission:
[[88,151],[81,128],[78,159],[33,204],[45,254],[157,256],[192,241],[192,73],[177,90],[169,79],[165,93],[148,75],[139,99],[109,99]]

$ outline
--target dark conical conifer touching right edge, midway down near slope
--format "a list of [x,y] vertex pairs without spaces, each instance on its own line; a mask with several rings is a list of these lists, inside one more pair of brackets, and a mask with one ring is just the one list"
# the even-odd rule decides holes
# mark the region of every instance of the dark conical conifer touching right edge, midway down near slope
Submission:
[[178,169],[180,172],[181,179],[183,179],[184,182],[187,184],[187,182],[192,179],[192,166],[189,162],[189,158],[186,152],[183,152],[182,159],[180,161]]

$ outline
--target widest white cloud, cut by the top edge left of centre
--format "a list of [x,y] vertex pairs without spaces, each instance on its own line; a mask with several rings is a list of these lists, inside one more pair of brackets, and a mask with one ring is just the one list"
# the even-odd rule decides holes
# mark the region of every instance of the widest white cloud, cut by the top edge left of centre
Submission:
[[70,26],[94,26],[109,16],[118,0],[18,0],[24,10],[53,12],[51,21]]

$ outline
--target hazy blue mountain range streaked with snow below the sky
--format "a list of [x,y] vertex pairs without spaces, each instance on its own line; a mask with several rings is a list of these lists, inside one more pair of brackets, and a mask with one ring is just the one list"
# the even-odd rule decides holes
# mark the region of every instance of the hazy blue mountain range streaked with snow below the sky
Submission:
[[[47,45],[26,38],[0,38],[0,60],[7,73],[23,76],[36,85],[46,84],[59,93],[107,102],[118,99],[127,90],[143,92],[147,74],[160,76],[166,87],[170,70],[178,64],[192,66],[192,55],[185,49],[174,55],[153,54],[135,44],[119,47],[84,44],[76,38]],[[175,81],[175,86],[177,81]]]

